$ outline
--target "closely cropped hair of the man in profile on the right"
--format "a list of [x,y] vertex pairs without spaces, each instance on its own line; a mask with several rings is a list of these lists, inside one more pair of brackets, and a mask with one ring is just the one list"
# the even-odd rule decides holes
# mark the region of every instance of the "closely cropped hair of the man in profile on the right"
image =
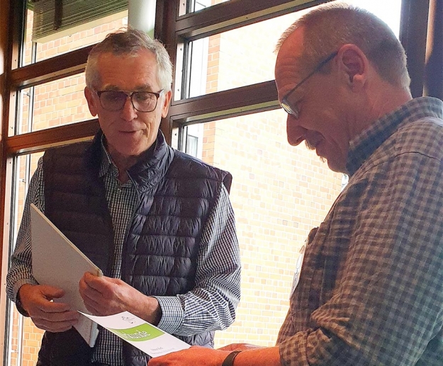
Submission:
[[301,69],[312,68],[350,43],[364,52],[383,80],[409,90],[403,46],[391,28],[369,11],[343,3],[319,6],[285,30],[277,42],[276,52],[289,35],[301,27],[305,30]]

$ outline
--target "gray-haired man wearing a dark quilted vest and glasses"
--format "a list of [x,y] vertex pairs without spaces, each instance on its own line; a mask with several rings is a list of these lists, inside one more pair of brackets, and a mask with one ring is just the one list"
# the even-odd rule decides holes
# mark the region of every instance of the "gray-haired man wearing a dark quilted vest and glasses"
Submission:
[[7,292],[45,330],[39,366],[141,366],[145,353],[101,328],[90,348],[72,328],[64,292],[32,275],[30,203],[103,277],[85,273],[86,309],[139,316],[191,345],[213,347],[240,300],[240,253],[228,191],[232,176],[167,145],[159,124],[172,64],[138,30],[111,33],[86,64],[84,95],[98,116],[93,142],[49,149],[30,183]]

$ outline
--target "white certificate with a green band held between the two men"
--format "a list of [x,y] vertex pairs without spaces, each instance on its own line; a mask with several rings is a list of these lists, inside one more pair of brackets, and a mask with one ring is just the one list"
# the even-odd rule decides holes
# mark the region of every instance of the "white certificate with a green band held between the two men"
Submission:
[[94,316],[79,312],[152,358],[191,347],[188,343],[147,323],[129,311],[109,316]]

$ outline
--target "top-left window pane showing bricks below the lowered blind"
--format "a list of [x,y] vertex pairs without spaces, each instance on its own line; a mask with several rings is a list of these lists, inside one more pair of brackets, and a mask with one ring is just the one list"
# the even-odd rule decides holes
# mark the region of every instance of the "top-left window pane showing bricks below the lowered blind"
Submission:
[[128,11],[123,11],[113,16],[102,18],[95,23],[86,24],[84,29],[73,30],[72,34],[60,36],[60,38],[55,40],[33,42],[33,15],[34,12],[30,10],[26,13],[26,42],[22,66],[62,55],[87,45],[94,45],[103,40],[113,30],[118,30],[128,25]]

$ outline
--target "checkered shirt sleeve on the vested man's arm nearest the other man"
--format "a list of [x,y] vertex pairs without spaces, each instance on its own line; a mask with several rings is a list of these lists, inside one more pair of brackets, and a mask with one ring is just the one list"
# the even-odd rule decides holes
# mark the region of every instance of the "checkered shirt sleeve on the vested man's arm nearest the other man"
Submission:
[[225,329],[240,302],[240,249],[235,217],[221,185],[198,252],[196,285],[186,294],[156,297],[162,307],[159,328],[180,336]]

